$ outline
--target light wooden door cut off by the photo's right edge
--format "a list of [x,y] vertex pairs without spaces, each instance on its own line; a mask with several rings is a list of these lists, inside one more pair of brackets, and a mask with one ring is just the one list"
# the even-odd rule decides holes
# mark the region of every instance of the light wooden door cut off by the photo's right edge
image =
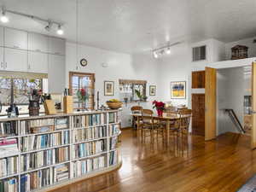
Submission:
[[251,147],[256,148],[256,62],[252,64],[252,109],[253,109],[253,126],[251,133]]

